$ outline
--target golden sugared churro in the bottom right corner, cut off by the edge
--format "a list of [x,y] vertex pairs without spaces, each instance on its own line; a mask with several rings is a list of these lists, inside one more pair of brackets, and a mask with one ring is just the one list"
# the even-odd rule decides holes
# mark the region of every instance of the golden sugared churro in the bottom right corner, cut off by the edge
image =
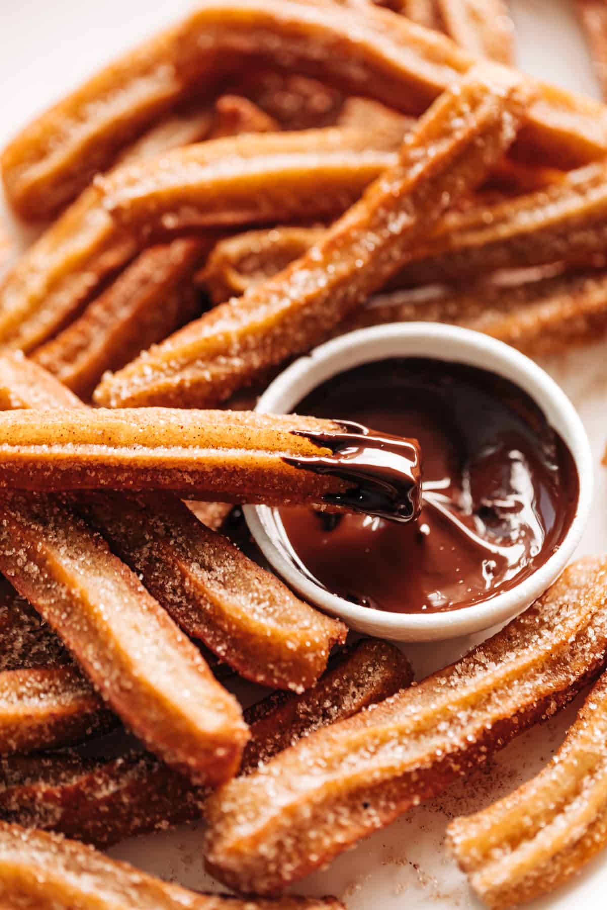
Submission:
[[456,818],[448,842],[481,901],[544,895],[607,844],[607,676],[588,695],[551,763],[481,812]]

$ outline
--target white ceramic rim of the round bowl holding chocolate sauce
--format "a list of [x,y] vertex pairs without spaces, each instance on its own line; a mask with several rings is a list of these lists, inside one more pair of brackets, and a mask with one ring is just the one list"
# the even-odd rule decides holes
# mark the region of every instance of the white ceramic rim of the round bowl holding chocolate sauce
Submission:
[[325,379],[363,363],[390,357],[432,357],[490,369],[531,395],[569,446],[578,471],[578,505],[561,545],[527,579],[486,602],[445,612],[392,613],[345,601],[304,575],[276,535],[274,509],[245,506],[248,528],[272,569],[288,585],[322,610],[339,616],[352,629],[418,642],[479,632],[511,619],[528,607],[556,581],[571,558],[582,538],[592,503],[590,442],[572,402],[537,363],[481,332],[431,322],[389,323],[358,329],[320,345],[270,383],[256,410],[288,413]]

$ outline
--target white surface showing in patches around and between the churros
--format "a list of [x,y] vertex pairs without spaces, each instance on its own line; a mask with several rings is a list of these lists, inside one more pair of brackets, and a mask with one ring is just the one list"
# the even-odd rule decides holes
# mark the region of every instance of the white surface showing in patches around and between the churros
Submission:
[[[187,0],[0,0],[0,144],[82,76],[187,6]],[[512,6],[522,68],[598,96],[570,3],[512,0]],[[597,508],[582,539],[581,553],[607,550],[607,471],[600,467],[607,438],[605,352],[605,344],[600,344],[548,365],[578,408],[592,442]],[[465,638],[446,645],[408,645],[406,650],[420,676],[475,642]],[[298,890],[338,894],[349,910],[478,910],[480,905],[442,847],[445,825],[454,814],[481,808],[539,770],[561,742],[574,708],[525,733],[489,768],[359,844],[329,870],[301,882]],[[220,890],[204,874],[199,844],[199,828],[194,826],[121,844],[111,854],[184,885]],[[572,885],[533,907],[604,910],[606,891],[607,854],[603,854]]]

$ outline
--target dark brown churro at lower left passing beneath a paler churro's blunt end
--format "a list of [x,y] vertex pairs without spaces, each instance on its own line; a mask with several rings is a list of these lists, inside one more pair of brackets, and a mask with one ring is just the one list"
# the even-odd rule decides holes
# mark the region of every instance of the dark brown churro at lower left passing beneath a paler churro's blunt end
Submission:
[[[300,695],[272,693],[245,712],[251,738],[239,773],[328,723],[351,717],[410,685],[410,666],[393,645],[366,639],[332,660]],[[0,761],[0,818],[53,830],[96,846],[200,817],[207,790],[149,754],[83,759],[46,754]]]

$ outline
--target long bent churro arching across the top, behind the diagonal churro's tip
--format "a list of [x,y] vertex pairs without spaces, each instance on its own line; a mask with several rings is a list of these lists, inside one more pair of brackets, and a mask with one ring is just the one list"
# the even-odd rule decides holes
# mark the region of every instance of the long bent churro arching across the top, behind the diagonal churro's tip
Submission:
[[[23,217],[52,217],[120,149],[187,96],[211,89],[248,58],[374,97],[419,115],[476,61],[449,38],[372,5],[298,0],[207,2],[181,25],[106,66],[16,136],[2,157],[5,189]],[[357,66],[352,66],[355,59]],[[539,86],[525,112],[525,143],[546,163],[571,167],[602,157],[602,105]]]

